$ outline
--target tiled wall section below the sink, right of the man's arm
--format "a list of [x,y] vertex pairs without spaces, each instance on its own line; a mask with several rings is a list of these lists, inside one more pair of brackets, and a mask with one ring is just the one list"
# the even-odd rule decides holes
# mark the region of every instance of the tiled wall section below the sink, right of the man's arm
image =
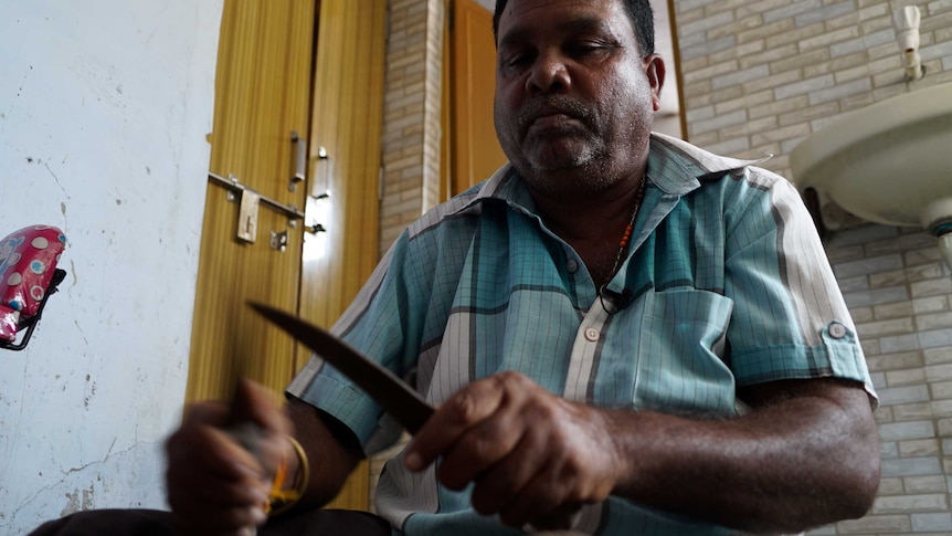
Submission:
[[811,534],[952,534],[952,275],[921,230],[867,224],[827,254],[880,397],[872,512]]

